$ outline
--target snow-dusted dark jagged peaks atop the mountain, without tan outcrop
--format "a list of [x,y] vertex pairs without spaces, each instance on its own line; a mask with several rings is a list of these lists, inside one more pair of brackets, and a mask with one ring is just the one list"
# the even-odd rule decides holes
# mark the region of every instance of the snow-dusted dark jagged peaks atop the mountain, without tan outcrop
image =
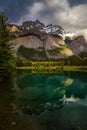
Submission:
[[64,36],[65,31],[61,26],[49,24],[45,26],[43,23],[41,23],[39,20],[36,21],[25,21],[22,24],[22,28],[25,30],[29,30],[31,28],[37,28],[39,31],[52,34],[52,35],[60,35]]

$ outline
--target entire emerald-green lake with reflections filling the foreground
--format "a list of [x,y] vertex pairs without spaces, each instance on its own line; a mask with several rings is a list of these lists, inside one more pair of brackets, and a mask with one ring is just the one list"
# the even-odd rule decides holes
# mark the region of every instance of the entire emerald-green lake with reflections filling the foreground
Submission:
[[0,130],[87,130],[87,73],[20,71],[4,81]]

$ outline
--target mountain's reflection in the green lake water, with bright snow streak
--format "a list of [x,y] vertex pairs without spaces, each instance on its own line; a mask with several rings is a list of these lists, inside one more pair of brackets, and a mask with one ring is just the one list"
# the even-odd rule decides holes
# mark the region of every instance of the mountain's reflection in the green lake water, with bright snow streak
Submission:
[[17,78],[15,97],[24,114],[41,114],[54,111],[68,103],[83,103],[87,95],[87,76],[75,73],[28,74]]

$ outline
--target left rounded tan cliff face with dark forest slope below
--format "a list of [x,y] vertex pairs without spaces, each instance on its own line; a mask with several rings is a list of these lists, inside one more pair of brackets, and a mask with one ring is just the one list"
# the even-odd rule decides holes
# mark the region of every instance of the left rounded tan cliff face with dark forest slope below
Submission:
[[14,41],[16,54],[20,59],[45,60],[43,41],[36,36],[18,37]]

